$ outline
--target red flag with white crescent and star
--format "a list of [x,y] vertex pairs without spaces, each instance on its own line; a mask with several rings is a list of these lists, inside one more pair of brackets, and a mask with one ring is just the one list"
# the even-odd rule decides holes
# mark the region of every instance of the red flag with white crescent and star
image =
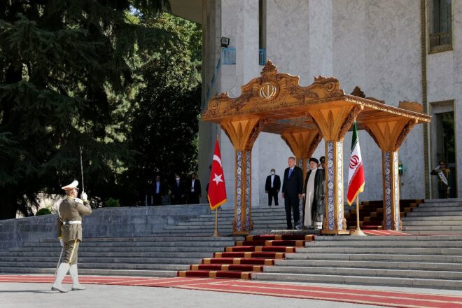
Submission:
[[212,160],[207,199],[209,199],[210,209],[217,209],[226,202],[225,176],[223,174],[223,167],[221,166],[218,138],[215,143],[214,160]]

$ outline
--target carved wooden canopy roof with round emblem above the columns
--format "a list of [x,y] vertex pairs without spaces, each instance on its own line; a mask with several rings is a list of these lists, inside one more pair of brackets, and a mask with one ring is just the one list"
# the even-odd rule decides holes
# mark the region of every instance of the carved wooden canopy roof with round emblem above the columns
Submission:
[[[248,118],[265,118],[263,132],[281,134],[288,129],[313,130],[318,127],[309,116],[310,111],[335,109],[344,106],[360,106],[355,113],[358,128],[365,123],[406,118],[416,123],[429,123],[431,117],[422,113],[417,102],[400,102],[398,107],[384,101],[365,97],[357,89],[345,94],[339,80],[334,77],[316,76],[311,85],[303,87],[298,76],[279,73],[276,65],[268,60],[260,77],[253,78],[241,87],[239,97],[229,97],[223,92],[210,99],[202,120],[224,123]],[[357,110],[356,108],[354,110]],[[344,132],[342,132],[344,133]]]

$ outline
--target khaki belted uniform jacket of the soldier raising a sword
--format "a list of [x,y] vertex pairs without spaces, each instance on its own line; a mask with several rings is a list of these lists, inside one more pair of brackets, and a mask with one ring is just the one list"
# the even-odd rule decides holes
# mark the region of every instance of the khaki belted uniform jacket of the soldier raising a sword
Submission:
[[74,239],[82,241],[82,225],[80,223],[64,225],[63,222],[82,221],[83,215],[91,213],[92,208],[86,200],[82,201],[77,198],[66,197],[59,204],[59,215],[57,217],[58,237],[62,237],[62,241],[64,242],[73,241]]

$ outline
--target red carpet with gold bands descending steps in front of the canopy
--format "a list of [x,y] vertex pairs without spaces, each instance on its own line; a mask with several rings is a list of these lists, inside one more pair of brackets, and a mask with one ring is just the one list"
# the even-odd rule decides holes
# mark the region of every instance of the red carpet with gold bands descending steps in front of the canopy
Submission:
[[314,235],[248,235],[245,241],[214,253],[213,258],[202,259],[202,264],[179,271],[178,276],[251,279],[252,272],[262,272],[263,266],[274,265],[274,260],[286,258],[286,253],[295,253],[295,247],[313,240]]

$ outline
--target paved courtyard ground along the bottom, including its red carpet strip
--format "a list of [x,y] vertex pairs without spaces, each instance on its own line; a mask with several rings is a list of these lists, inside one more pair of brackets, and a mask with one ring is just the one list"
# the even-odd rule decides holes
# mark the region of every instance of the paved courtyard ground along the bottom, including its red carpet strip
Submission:
[[[18,281],[18,282],[8,282]],[[0,275],[2,308],[13,307],[462,307],[462,291],[274,283],[232,279],[82,276],[87,290],[57,293],[50,275]],[[20,282],[25,281],[25,282]],[[35,282],[27,282],[35,281]],[[70,288],[69,279],[64,286]],[[98,283],[98,284],[97,284]],[[265,294],[265,295],[263,295]],[[299,297],[299,298],[297,298]],[[300,298],[304,297],[304,298]],[[322,298],[323,300],[314,300]],[[345,302],[347,301],[347,302]]]

